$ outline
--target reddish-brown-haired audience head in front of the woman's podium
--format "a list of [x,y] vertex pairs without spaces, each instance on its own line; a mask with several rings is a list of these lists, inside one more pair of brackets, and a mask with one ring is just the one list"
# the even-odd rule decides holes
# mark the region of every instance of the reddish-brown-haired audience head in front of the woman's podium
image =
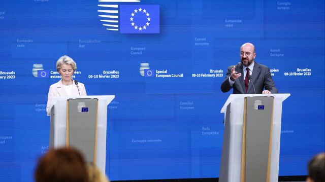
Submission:
[[88,182],[83,156],[75,149],[50,150],[39,159],[35,171],[37,182]]

